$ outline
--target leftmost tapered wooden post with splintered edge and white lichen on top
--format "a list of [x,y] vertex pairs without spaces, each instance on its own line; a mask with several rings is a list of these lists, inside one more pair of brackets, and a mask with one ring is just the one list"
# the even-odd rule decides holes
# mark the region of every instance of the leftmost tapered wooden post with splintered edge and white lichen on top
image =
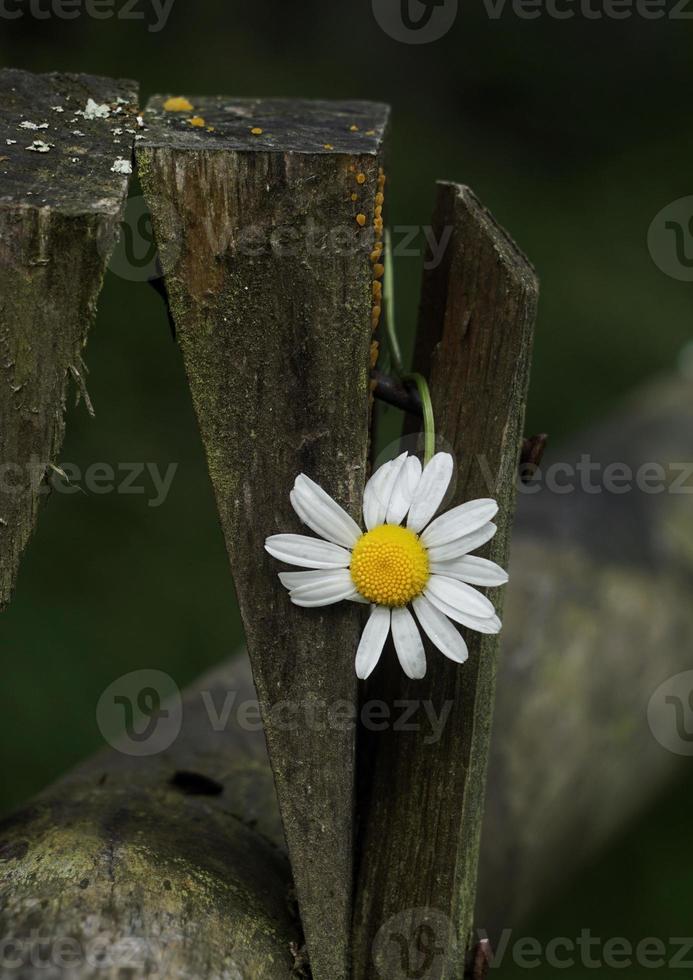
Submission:
[[[0,609],[58,460],[127,197],[137,85],[0,72]],[[117,132],[119,131],[119,132]]]

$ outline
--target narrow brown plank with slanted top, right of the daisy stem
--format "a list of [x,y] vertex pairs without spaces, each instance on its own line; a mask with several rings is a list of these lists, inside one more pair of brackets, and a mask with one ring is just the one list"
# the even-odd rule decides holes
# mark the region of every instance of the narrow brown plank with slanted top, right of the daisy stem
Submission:
[[[430,381],[438,448],[457,461],[445,506],[498,500],[489,556],[506,564],[529,378],[537,282],[525,257],[466,187],[440,184],[436,240],[452,230],[444,260],[424,277],[414,364]],[[493,596],[497,607],[502,591]],[[500,611],[500,609],[499,609]],[[428,674],[407,681],[383,658],[367,697],[426,700],[445,719],[430,732],[365,732],[355,914],[355,977],[403,975],[402,957],[427,975],[459,980],[470,944],[497,637],[469,633],[462,667],[428,648]],[[428,951],[428,952],[427,952]],[[417,967],[417,968],[418,968]]]

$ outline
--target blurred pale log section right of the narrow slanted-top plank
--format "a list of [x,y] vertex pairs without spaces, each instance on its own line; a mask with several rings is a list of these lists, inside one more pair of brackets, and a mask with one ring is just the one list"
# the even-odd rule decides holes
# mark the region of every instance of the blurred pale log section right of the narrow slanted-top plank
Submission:
[[[648,706],[691,666],[692,459],[680,374],[547,453],[539,491],[521,495],[479,872],[477,923],[492,936],[680,771]],[[673,734],[673,709],[656,708]]]

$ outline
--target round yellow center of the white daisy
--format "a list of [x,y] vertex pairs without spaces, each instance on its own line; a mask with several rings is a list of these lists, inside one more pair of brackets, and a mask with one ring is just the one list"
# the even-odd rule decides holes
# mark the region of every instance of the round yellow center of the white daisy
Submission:
[[350,571],[364,599],[379,606],[406,606],[428,582],[428,554],[413,531],[381,524],[356,542]]

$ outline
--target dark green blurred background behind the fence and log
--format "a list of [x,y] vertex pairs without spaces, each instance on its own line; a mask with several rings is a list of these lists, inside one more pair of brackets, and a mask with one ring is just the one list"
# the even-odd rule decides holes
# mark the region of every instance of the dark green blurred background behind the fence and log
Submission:
[[[427,223],[434,180],[463,181],[538,269],[528,430],[559,439],[598,419],[672,368],[690,337],[691,286],[647,250],[657,212],[693,192],[685,20],[493,20],[482,0],[465,0],[454,29],[419,47],[384,34],[369,0],[177,0],[160,33],[83,16],[0,19],[0,31],[3,65],[135,78],[143,101],[164,91],[390,102],[389,223]],[[407,336],[419,264],[397,263]],[[86,360],[97,415],[70,411],[62,459],[179,468],[158,508],[147,495],[82,493],[45,508],[0,621],[3,810],[101,744],[95,705],[120,674],[159,668],[184,685],[242,641],[179,353],[153,290],[108,275]],[[663,801],[529,930],[689,933],[690,807],[685,789]]]

